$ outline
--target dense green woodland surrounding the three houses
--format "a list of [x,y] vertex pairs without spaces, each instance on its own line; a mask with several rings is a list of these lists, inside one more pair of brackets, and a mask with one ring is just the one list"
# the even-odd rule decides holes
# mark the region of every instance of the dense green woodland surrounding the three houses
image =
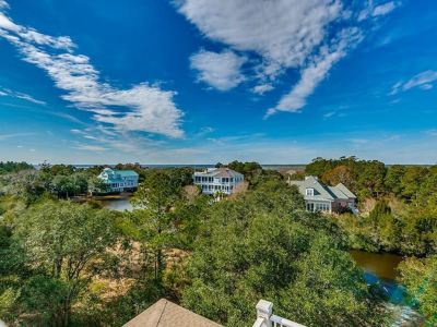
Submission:
[[[222,166],[222,164],[217,164]],[[391,312],[351,249],[405,256],[400,281],[437,323],[437,167],[317,158],[286,177],[227,165],[246,192],[221,202],[192,168],[134,169],[132,211],[104,209],[102,167],[0,164],[0,317],[11,326],[121,326],[161,298],[226,326],[255,305],[307,326],[385,326]],[[287,178],[342,182],[361,215],[305,211]],[[78,201],[85,198],[86,201]]]

